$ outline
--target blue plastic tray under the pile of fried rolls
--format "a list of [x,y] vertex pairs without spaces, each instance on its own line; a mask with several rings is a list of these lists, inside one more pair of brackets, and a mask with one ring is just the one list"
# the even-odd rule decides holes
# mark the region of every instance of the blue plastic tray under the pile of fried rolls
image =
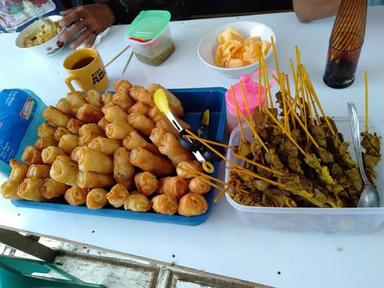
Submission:
[[[201,112],[209,108],[211,110],[211,125],[209,135],[218,141],[224,140],[225,134],[225,92],[224,88],[191,88],[191,89],[172,89],[171,90],[183,103],[186,120],[193,129],[199,126]],[[215,173],[217,176],[219,170],[218,163],[215,164]],[[127,219],[137,219],[144,221],[154,221],[163,223],[173,223],[180,225],[196,226],[204,223],[212,210],[213,195],[211,191],[206,194],[208,210],[202,215],[194,217],[185,217],[179,215],[161,215],[153,212],[131,212],[124,209],[103,208],[92,210],[86,206],[71,206],[62,202],[33,202],[26,200],[12,200],[17,207],[34,208],[41,210],[53,210],[69,213],[80,213],[97,216],[118,217]]]

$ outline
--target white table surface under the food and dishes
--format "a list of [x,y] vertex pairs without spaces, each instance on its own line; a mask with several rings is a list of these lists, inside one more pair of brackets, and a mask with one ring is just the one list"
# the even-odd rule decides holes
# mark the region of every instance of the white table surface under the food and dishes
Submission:
[[[128,57],[124,54],[108,67],[112,81],[126,78],[148,85],[158,82],[168,88],[228,87],[233,81],[204,66],[197,57],[199,39],[211,27],[238,18],[171,23],[175,53],[159,67],[132,59],[124,77]],[[383,135],[384,96],[384,7],[369,9],[365,44],[355,83],[347,89],[330,89],[322,81],[328,38],[333,18],[309,24],[298,22],[293,13],[240,17],[269,25],[277,35],[280,65],[288,70],[294,46],[302,52],[315,88],[328,115],[346,115],[346,102],[354,101],[363,113],[363,70],[369,71],[370,120]],[[108,62],[123,47],[124,26],[113,27],[98,47]],[[61,67],[64,50],[41,59],[14,47],[14,34],[0,34],[0,88],[29,88],[47,104],[67,92],[66,73]],[[271,61],[269,61],[272,64]],[[242,224],[223,199],[206,223],[197,227],[139,222],[126,219],[21,209],[0,200],[0,226],[64,238],[133,255],[152,258],[211,273],[277,287],[383,287],[384,229],[366,235],[287,233]],[[174,255],[174,257],[173,257]]]

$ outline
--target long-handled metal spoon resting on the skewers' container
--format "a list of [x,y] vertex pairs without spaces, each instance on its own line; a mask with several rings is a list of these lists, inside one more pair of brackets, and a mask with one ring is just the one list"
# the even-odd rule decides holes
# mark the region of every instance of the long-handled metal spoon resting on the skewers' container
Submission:
[[357,117],[356,107],[353,103],[348,103],[348,116],[349,123],[351,124],[352,144],[355,151],[357,165],[359,166],[360,175],[363,180],[363,191],[360,195],[358,207],[379,207],[379,193],[375,186],[368,180],[364,170],[364,163],[361,154],[361,140],[360,140],[360,128],[359,118]]

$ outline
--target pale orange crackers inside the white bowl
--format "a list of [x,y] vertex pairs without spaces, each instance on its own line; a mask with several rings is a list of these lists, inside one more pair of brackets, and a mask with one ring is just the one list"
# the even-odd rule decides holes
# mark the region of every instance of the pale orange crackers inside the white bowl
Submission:
[[227,28],[217,37],[215,63],[220,67],[242,67],[255,63],[259,53],[267,55],[271,43],[260,37],[245,37],[234,28]]

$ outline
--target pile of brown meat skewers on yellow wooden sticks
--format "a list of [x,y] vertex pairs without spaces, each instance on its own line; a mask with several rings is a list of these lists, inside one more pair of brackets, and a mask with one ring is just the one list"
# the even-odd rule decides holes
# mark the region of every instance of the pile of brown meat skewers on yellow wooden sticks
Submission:
[[[229,194],[249,206],[356,207],[363,182],[350,144],[325,114],[304,66],[299,64],[297,71],[295,86],[306,93],[292,96],[282,74],[278,105],[269,95],[266,107],[258,107],[247,120],[253,137],[239,140],[234,157],[244,164],[231,164]],[[380,137],[363,133],[361,145],[374,183]]]

